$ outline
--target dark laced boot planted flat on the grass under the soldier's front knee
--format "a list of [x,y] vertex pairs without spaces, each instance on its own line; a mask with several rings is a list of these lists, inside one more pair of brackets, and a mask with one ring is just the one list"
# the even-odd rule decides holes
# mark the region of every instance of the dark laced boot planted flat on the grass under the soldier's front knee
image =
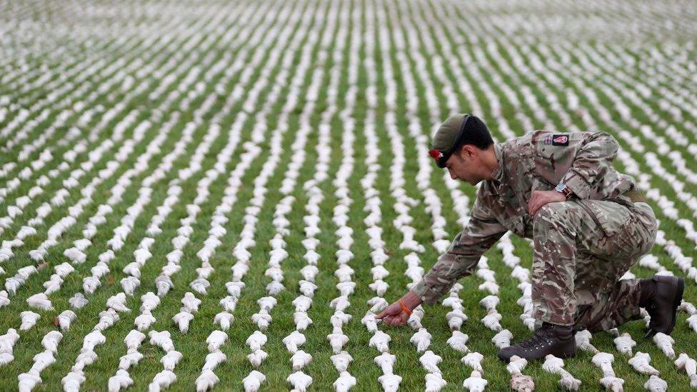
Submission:
[[544,358],[547,354],[559,358],[576,356],[576,339],[573,338],[572,326],[558,326],[542,323],[533,336],[514,346],[501,348],[498,358],[508,362],[512,356],[519,356],[530,361]]

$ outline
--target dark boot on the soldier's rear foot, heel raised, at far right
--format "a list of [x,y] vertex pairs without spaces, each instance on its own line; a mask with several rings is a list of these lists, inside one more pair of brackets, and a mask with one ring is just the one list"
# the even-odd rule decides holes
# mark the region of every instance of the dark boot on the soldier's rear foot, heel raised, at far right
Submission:
[[676,323],[678,306],[683,299],[685,283],[676,276],[655,275],[641,279],[641,300],[639,306],[646,308],[651,321],[648,323],[646,338],[663,332],[670,335]]

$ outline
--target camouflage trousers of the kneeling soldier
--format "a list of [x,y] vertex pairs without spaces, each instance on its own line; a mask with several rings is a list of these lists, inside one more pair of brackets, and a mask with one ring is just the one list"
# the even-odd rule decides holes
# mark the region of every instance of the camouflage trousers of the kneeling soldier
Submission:
[[654,241],[651,206],[615,201],[548,203],[533,216],[533,317],[606,331],[641,318],[638,279],[623,279]]

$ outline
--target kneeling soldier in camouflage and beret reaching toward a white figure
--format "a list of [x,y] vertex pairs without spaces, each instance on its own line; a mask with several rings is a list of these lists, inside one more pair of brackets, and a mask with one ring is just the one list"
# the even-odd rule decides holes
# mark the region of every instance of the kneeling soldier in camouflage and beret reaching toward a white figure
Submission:
[[605,331],[651,315],[647,336],[670,334],[683,279],[621,276],[647,253],[658,223],[631,176],[612,162],[618,144],[606,133],[534,131],[494,144],[481,119],[448,117],[429,154],[453,179],[481,182],[470,219],[423,280],[376,318],[406,323],[421,303],[433,305],[506,231],[532,238],[531,338],[498,356],[526,359],[576,354],[575,331]]

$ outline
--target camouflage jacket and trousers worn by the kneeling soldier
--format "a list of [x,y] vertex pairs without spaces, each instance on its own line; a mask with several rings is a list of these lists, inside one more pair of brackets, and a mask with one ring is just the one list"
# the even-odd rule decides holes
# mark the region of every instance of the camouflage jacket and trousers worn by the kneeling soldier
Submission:
[[[590,132],[534,131],[495,144],[493,180],[482,181],[468,224],[413,291],[436,303],[510,230],[534,241],[533,316],[540,323],[602,331],[639,318],[638,279],[619,279],[651,249],[657,223],[651,206],[633,196],[631,176],[613,169],[617,148],[611,135]],[[530,216],[532,192],[559,183],[575,196]]]

